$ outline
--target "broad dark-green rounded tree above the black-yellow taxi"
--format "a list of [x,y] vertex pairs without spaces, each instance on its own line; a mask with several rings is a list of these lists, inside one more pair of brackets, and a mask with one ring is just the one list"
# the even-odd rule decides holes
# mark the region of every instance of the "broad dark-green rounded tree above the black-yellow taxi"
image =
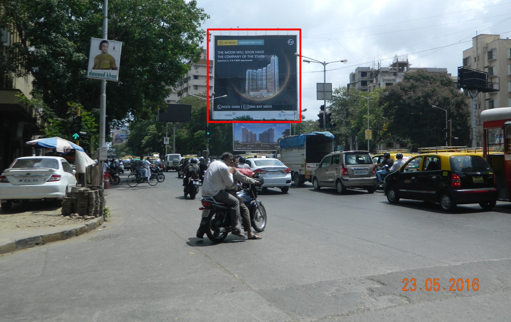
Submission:
[[445,113],[432,108],[436,105],[447,109],[453,120],[453,136],[459,138],[453,144],[469,144],[468,102],[446,74],[422,70],[406,73],[403,81],[387,87],[387,92],[381,102],[388,119],[384,129],[388,137],[410,141],[413,150],[444,145]]

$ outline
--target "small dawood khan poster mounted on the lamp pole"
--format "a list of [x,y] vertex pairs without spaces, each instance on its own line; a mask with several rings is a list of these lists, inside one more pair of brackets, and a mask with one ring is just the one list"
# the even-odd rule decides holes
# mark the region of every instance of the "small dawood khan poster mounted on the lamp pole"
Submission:
[[90,38],[87,78],[119,81],[122,42]]

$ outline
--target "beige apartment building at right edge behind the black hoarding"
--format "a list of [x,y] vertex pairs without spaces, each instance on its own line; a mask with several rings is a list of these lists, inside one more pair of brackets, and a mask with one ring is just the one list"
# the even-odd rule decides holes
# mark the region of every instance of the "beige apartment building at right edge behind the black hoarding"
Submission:
[[[472,38],[472,47],[463,51],[464,67],[488,73],[488,81],[498,91],[479,92],[476,96],[476,144],[482,145],[481,111],[511,107],[511,40],[499,35],[481,34]],[[467,93],[468,94],[468,93]],[[469,96],[470,98],[470,96]]]

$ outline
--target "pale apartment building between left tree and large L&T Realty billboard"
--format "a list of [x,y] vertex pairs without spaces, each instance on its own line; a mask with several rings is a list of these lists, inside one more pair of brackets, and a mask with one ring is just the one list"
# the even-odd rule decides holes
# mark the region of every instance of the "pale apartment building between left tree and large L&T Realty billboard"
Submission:
[[165,98],[167,104],[176,104],[183,97],[193,95],[199,95],[206,93],[207,79],[210,80],[210,97],[213,93],[213,60],[210,60],[210,68],[207,68],[207,55],[206,51],[202,52],[201,59],[192,64],[187,75],[177,83],[173,88],[169,96]]

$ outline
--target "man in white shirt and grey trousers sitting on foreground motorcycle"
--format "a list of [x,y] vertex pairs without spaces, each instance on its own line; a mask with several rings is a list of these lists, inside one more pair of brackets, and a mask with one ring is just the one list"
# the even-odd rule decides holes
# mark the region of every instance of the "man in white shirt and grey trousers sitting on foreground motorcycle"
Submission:
[[[240,202],[238,199],[225,191],[225,187],[235,184],[233,174],[236,168],[229,165],[233,162],[233,154],[224,152],[220,160],[212,162],[204,174],[202,183],[202,195],[211,195],[217,201],[229,206],[231,234],[239,237],[247,237],[241,232]],[[197,238],[204,238],[204,227],[199,226]]]

